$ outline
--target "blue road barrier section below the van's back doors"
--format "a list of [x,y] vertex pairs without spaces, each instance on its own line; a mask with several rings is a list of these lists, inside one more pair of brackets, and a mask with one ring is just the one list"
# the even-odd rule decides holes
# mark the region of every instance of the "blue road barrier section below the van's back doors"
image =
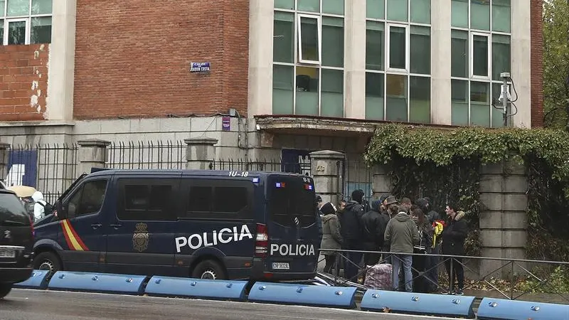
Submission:
[[354,308],[356,288],[257,282],[249,292],[251,302]]

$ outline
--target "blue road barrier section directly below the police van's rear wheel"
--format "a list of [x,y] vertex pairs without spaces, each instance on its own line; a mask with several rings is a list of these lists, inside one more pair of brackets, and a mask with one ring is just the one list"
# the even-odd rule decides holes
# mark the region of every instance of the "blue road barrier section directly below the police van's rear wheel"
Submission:
[[149,295],[195,297],[208,299],[244,300],[247,281],[151,277],[146,292]]

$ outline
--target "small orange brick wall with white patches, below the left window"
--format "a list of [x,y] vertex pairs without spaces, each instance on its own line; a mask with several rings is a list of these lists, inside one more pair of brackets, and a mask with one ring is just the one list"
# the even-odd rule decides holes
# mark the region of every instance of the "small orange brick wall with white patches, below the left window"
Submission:
[[43,120],[48,46],[0,46],[0,121]]

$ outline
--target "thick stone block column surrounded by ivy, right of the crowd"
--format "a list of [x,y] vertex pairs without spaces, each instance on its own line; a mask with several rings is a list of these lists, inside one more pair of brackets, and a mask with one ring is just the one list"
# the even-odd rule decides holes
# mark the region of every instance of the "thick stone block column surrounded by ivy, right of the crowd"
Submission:
[[[482,166],[480,176],[480,241],[482,257],[525,259],[527,238],[528,180],[523,166],[514,162]],[[506,261],[482,260],[480,275],[505,265]],[[519,271],[519,268],[514,268]],[[494,277],[507,277],[511,266]]]

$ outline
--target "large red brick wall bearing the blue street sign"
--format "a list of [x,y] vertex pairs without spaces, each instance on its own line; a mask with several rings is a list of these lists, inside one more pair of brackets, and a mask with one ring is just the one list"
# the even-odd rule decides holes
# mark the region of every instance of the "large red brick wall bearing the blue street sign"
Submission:
[[78,0],[75,119],[245,114],[248,2]]

